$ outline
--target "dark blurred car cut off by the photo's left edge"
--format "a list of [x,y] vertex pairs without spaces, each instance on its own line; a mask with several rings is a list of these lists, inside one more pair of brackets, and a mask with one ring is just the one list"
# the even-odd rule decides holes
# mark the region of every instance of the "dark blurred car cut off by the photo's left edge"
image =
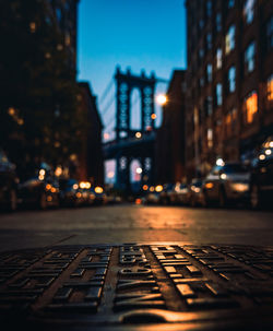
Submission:
[[15,165],[12,164],[4,152],[0,151],[0,206],[10,211],[17,206],[17,177]]

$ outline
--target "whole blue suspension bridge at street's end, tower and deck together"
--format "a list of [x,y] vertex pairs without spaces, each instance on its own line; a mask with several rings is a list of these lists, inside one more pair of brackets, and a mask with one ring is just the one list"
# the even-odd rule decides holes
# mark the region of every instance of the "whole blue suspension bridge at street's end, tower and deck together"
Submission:
[[[116,85],[116,111],[111,122],[115,122],[112,131],[115,138],[104,143],[104,158],[116,159],[115,187],[127,192],[131,191],[130,166],[133,159],[140,164],[141,184],[154,184],[155,162],[155,85],[157,82],[166,82],[156,79],[152,73],[147,76],[144,71],[141,75],[133,75],[130,70],[122,73],[118,67],[115,73]],[[134,114],[132,113],[132,91],[140,93],[141,123],[138,130],[132,129]]]

